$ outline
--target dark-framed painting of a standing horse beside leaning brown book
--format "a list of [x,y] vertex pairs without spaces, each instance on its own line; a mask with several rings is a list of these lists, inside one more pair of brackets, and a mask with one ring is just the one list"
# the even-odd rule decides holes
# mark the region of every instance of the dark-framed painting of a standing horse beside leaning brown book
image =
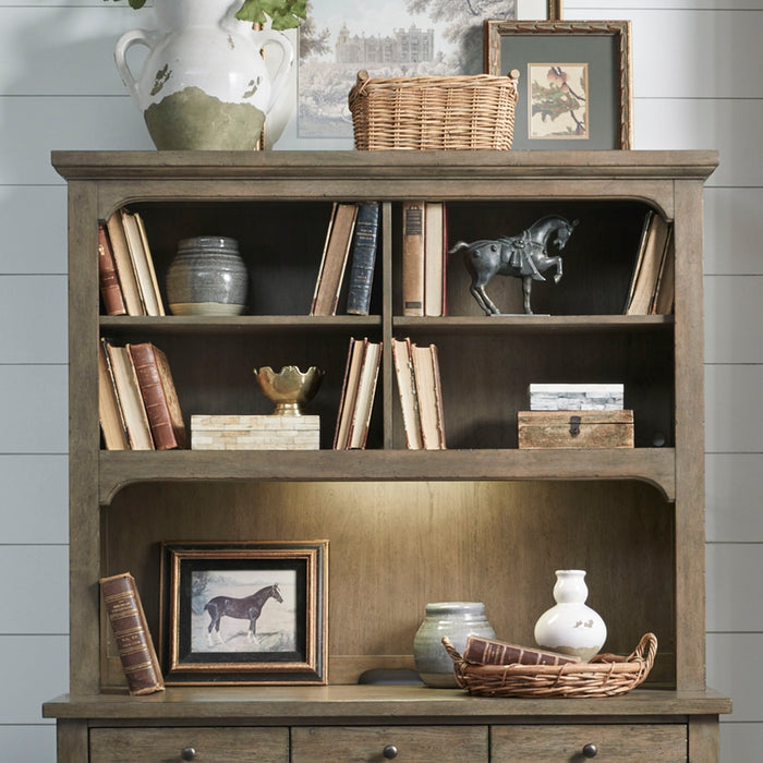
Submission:
[[164,543],[171,685],[326,683],[328,542]]

